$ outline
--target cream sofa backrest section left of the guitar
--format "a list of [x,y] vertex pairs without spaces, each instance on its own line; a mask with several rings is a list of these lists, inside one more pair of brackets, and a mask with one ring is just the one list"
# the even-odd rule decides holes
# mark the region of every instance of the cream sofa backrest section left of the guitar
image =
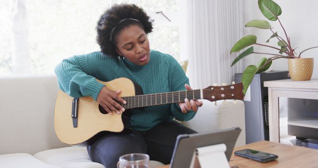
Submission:
[[55,135],[55,75],[0,77],[0,154],[65,147]]

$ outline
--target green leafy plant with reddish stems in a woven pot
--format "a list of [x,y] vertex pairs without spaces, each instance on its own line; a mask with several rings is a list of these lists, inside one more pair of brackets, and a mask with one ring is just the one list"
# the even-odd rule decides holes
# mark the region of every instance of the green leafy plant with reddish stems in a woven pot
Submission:
[[[251,81],[256,73],[266,71],[271,66],[273,60],[280,59],[280,58],[288,59],[289,75],[291,76],[292,80],[298,80],[298,81],[310,80],[312,73],[313,73],[314,59],[313,58],[301,58],[301,55],[303,52],[310,50],[310,49],[313,49],[313,48],[317,48],[318,46],[303,50],[302,52],[300,52],[297,55],[295,53],[295,48],[293,48],[291,46],[290,38],[287,35],[285,28],[283,27],[281,21],[278,18],[278,16],[281,15],[281,13],[282,13],[280,6],[277,3],[275,3],[273,0],[258,0],[258,7],[259,7],[260,11],[262,12],[262,14],[267,19],[269,19],[271,21],[276,21],[276,20],[279,21],[279,23],[283,29],[285,37],[282,37],[277,32],[274,32],[272,26],[266,20],[257,19],[257,20],[251,20],[251,21],[246,23],[245,27],[255,27],[255,28],[270,30],[272,32],[272,35],[266,41],[266,43],[269,42],[269,40],[271,40],[272,38],[275,38],[278,40],[278,43],[277,43],[278,47],[257,43],[256,42],[257,37],[255,35],[247,35],[247,36],[244,36],[243,38],[241,38],[237,43],[234,44],[234,46],[231,50],[231,54],[234,52],[239,52],[240,50],[242,50],[248,46],[251,46],[251,45],[259,45],[259,46],[263,46],[263,47],[269,47],[269,48],[277,50],[278,53],[274,54],[274,53],[255,52],[254,48],[252,46],[252,47],[249,47],[244,52],[242,52],[241,54],[239,54],[239,56],[237,58],[235,58],[235,60],[232,63],[232,66],[235,65],[240,59],[246,57],[247,55],[253,54],[253,53],[254,54],[266,54],[266,55],[272,56],[270,58],[265,58],[265,57],[262,58],[259,61],[257,66],[249,65],[248,67],[246,67],[245,71],[242,74],[242,79],[241,79],[241,81],[243,82],[243,86],[244,86],[243,93],[245,94],[249,84],[251,83]],[[298,62],[301,62],[301,65],[300,65],[301,68],[297,69]],[[296,69],[293,70],[293,68],[296,68]],[[309,73],[307,73],[308,76],[305,76],[303,72],[300,72],[300,70],[309,71]],[[297,73],[300,73],[301,75],[298,75]],[[303,77],[306,77],[306,78],[302,79]]]

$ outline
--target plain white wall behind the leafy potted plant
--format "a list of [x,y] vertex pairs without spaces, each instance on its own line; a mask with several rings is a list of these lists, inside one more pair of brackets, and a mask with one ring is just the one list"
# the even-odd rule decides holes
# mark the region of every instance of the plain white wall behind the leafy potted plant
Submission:
[[[279,16],[287,35],[291,39],[293,48],[296,48],[296,53],[318,46],[318,0],[274,0],[282,8],[282,14]],[[246,24],[252,19],[264,19],[268,20],[260,12],[257,4],[257,0],[244,0],[243,1],[243,21]],[[268,20],[269,21],[269,20]],[[278,35],[286,39],[284,31],[282,30],[278,21],[269,21],[273,31],[278,31]],[[244,36],[248,34],[254,34],[257,36],[257,43],[270,44],[277,47],[277,39],[272,39],[269,43],[266,40],[271,36],[270,30],[257,29],[252,27],[244,28]],[[254,51],[264,53],[278,52],[274,49],[264,47],[254,47]],[[244,67],[248,65],[257,65],[258,61],[262,57],[268,57],[266,55],[249,55],[243,61]],[[314,74],[312,78],[318,78],[318,48],[308,50],[302,54],[302,58],[315,58]],[[273,62],[270,70],[288,70],[287,60],[278,59]]]

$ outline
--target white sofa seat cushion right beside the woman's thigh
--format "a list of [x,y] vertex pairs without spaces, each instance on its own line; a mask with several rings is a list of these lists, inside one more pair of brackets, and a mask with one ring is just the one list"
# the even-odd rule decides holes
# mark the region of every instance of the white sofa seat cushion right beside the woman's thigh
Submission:
[[91,162],[84,146],[46,150],[36,153],[34,157],[62,168],[105,168],[99,163]]

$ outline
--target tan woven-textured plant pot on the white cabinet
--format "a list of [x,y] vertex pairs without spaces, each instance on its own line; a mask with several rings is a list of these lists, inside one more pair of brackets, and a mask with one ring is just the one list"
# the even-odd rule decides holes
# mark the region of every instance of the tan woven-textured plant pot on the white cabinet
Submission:
[[309,81],[314,70],[314,58],[288,59],[289,76],[293,81]]

